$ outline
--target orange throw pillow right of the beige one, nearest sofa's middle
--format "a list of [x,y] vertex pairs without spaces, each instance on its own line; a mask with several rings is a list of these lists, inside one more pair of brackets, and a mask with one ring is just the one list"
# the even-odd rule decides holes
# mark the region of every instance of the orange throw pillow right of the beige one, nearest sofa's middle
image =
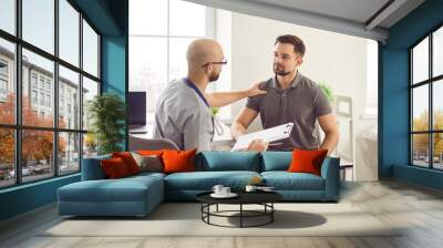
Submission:
[[195,172],[195,153],[197,149],[175,151],[165,149],[163,152],[163,172],[182,173]]

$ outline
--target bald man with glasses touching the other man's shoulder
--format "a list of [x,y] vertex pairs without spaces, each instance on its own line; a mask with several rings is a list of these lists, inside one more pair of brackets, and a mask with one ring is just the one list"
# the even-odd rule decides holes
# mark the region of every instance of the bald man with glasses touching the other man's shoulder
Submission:
[[[168,138],[181,149],[210,151],[215,116],[210,106],[225,106],[244,97],[266,94],[258,84],[246,91],[206,93],[227,63],[222,45],[210,39],[193,41],[186,53],[188,73],[162,92],[155,111],[154,138]],[[253,141],[247,151],[266,151],[267,143]]]

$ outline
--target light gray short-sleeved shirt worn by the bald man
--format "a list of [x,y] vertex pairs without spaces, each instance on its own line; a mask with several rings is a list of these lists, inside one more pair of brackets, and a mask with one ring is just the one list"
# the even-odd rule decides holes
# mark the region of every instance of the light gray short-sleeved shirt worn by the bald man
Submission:
[[169,138],[181,149],[210,151],[214,136],[209,107],[184,80],[171,82],[156,110],[154,138]]

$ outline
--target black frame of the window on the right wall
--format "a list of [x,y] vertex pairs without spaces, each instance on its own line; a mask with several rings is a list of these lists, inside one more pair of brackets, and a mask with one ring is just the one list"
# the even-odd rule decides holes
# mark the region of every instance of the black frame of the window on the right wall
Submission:
[[[433,170],[443,170],[443,168],[435,168],[434,167],[434,141],[433,136],[434,134],[443,134],[443,130],[434,130],[434,110],[433,110],[433,101],[434,101],[434,95],[433,95],[433,87],[435,83],[439,83],[439,81],[443,80],[443,74],[433,76],[433,34],[435,31],[439,29],[443,29],[443,23],[440,23],[439,25],[434,27],[431,31],[429,31],[424,37],[420,38],[415,43],[413,43],[409,49],[409,165],[413,167],[420,167],[420,168],[427,168],[427,169],[433,169]],[[422,41],[425,39],[429,39],[429,70],[427,70],[427,79],[423,80],[421,82],[416,82],[414,84],[413,82],[413,49],[416,48]],[[429,96],[429,116],[427,116],[427,131],[413,131],[413,90],[423,85],[427,85],[427,96]],[[414,164],[414,146],[413,146],[413,135],[414,134],[427,134],[427,167],[425,166],[420,166]]]

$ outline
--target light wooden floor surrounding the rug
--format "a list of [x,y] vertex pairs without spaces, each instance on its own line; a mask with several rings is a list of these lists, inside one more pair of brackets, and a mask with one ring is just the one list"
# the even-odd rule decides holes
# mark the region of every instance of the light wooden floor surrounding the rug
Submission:
[[443,247],[441,192],[396,180],[351,183],[343,186],[341,202],[359,206],[387,225],[406,228],[395,237],[39,237],[42,229],[60,221],[52,205],[0,224],[0,247]]

